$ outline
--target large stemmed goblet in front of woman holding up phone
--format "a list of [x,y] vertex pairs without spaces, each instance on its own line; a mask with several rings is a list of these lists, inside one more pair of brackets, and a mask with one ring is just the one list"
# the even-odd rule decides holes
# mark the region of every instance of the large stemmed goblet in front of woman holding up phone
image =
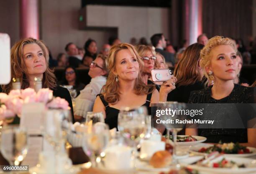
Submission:
[[137,154],[137,146],[144,138],[147,132],[146,116],[140,113],[139,109],[131,109],[129,107],[120,110],[118,114],[118,130],[127,139],[130,139],[133,148],[133,164],[136,167],[135,159]]

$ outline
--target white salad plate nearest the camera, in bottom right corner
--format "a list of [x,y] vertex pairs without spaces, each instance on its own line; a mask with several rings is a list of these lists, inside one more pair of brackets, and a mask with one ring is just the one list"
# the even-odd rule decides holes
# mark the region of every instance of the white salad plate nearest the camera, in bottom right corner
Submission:
[[221,161],[223,158],[227,159],[228,161],[234,161],[238,165],[245,164],[246,168],[236,168],[236,169],[230,169],[230,168],[213,168],[213,167],[206,167],[206,166],[198,166],[198,165],[189,165],[187,167],[190,167],[192,169],[196,169],[198,171],[207,171],[212,172],[214,174],[244,174],[250,172],[252,174],[256,173],[256,160],[255,159],[249,159],[249,158],[241,158],[241,157],[230,157],[227,155],[220,156],[217,159],[214,159],[210,161],[210,164],[212,166],[213,163]]

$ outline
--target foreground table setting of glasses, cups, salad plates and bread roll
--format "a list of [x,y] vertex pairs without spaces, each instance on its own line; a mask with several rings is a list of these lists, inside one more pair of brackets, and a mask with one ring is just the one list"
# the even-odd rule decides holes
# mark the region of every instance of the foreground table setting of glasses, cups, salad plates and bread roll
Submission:
[[[30,174],[256,173],[256,148],[236,142],[205,143],[203,136],[177,135],[177,127],[166,126],[163,136],[151,128],[151,115],[144,107],[120,110],[118,128],[111,130],[102,113],[89,112],[85,122],[74,124],[68,110],[42,113],[40,141],[31,138],[35,135],[28,124],[3,125],[0,130],[3,158],[10,165],[28,165]],[[42,147],[33,154],[37,161],[32,165],[29,153],[36,144]]]

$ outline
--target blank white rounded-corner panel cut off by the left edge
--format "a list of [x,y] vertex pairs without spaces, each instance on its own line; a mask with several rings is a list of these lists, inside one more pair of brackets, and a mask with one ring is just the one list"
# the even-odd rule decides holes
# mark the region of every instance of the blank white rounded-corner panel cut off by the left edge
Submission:
[[8,84],[10,79],[10,37],[0,33],[0,84]]

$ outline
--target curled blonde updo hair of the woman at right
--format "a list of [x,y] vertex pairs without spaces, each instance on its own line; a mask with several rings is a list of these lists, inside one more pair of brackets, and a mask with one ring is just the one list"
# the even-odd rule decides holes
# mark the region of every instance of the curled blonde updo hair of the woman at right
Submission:
[[205,47],[200,52],[200,57],[201,57],[200,67],[204,69],[204,75],[207,78],[207,81],[205,82],[205,84],[209,82],[209,75],[206,71],[206,67],[208,67],[211,64],[212,57],[210,56],[210,53],[212,49],[220,45],[229,45],[234,49],[235,53],[237,52],[236,44],[232,39],[224,38],[223,36],[215,36],[210,38],[207,44],[205,45]]

